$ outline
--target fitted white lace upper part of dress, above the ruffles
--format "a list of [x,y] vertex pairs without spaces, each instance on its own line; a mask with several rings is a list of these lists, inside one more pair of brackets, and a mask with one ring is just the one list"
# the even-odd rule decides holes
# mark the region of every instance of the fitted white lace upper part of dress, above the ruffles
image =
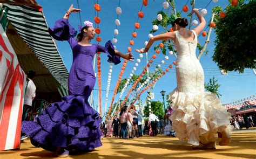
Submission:
[[204,71],[196,57],[197,35],[194,31],[194,39],[187,42],[175,31],[175,47],[178,52],[176,63],[177,88],[180,92],[200,93],[204,92]]

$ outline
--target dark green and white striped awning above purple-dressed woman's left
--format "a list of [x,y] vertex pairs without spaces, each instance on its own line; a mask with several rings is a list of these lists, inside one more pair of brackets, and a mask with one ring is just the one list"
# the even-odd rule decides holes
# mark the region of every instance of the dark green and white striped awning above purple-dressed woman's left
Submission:
[[12,26],[60,85],[68,87],[69,72],[48,32],[43,12],[24,5],[4,4]]

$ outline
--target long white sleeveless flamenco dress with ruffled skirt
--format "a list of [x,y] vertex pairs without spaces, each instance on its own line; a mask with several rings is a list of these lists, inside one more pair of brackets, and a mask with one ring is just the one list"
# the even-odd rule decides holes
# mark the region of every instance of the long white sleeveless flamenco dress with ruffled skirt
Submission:
[[187,42],[175,31],[177,88],[170,93],[174,111],[170,116],[172,127],[180,141],[198,146],[215,142],[217,132],[225,128],[231,132],[230,113],[212,93],[204,92],[204,71],[196,57],[197,35]]

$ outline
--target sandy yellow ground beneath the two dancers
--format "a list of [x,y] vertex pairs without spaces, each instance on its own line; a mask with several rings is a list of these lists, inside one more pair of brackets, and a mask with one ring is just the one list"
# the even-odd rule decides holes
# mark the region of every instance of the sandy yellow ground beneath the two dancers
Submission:
[[[239,130],[232,134],[232,143],[216,150],[194,150],[177,137],[164,135],[143,136],[134,139],[107,137],[103,146],[90,153],[70,155],[67,158],[256,158],[256,129]],[[0,151],[0,158],[57,158],[54,153],[33,147],[26,139],[20,150]]]

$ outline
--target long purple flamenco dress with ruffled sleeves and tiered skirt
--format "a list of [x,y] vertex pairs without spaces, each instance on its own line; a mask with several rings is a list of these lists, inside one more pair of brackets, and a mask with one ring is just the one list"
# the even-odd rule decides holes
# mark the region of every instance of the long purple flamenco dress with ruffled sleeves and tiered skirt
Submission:
[[69,74],[69,96],[51,103],[35,122],[24,121],[22,131],[30,136],[31,143],[45,150],[56,151],[57,147],[67,150],[90,151],[102,146],[99,113],[88,102],[95,86],[95,72],[92,60],[96,52],[105,52],[109,62],[120,63],[110,41],[105,47],[98,44],[79,45],[74,39],[77,31],[67,19],[59,19],[51,36],[57,40],[68,40],[73,51],[73,63]]

